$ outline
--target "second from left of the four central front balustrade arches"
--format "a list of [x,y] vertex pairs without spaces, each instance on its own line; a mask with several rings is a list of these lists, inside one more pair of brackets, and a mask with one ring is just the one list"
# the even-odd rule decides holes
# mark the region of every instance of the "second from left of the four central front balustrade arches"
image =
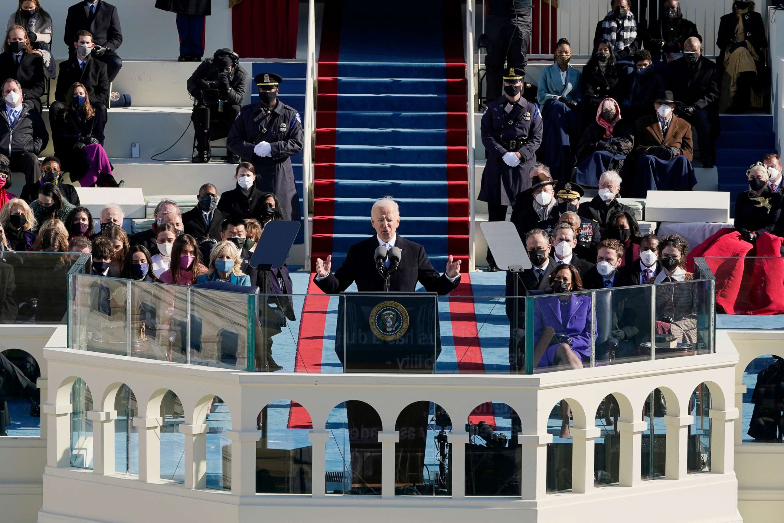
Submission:
[[365,401],[339,403],[327,416],[326,493],[381,495],[381,416]]

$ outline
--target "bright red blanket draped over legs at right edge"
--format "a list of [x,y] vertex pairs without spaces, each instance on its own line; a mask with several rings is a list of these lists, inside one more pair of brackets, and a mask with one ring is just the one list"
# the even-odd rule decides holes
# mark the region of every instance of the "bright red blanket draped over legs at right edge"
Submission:
[[706,258],[716,276],[718,313],[784,314],[781,247],[782,238],[772,234],[761,234],[752,245],[738,231],[721,229],[689,252],[686,270],[694,270],[695,258]]

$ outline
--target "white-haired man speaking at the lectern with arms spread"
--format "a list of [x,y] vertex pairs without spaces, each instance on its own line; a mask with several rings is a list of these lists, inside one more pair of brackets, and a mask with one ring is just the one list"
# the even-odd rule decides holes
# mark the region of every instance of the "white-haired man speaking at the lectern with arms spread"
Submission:
[[[376,270],[374,253],[379,245],[387,249],[397,247],[403,252],[400,267],[390,274],[390,291],[414,292],[416,282],[424,285],[428,292],[446,295],[459,284],[460,262],[449,256],[443,275],[433,268],[427,259],[425,248],[397,235],[400,225],[400,210],[390,197],[381,198],[371,209],[371,223],[376,235],[362,240],[348,249],[346,260],[332,274],[332,255],[326,260],[316,260],[314,281],[327,294],[339,294],[357,282],[359,292],[382,292],[384,279]],[[389,261],[387,260],[387,263]]]

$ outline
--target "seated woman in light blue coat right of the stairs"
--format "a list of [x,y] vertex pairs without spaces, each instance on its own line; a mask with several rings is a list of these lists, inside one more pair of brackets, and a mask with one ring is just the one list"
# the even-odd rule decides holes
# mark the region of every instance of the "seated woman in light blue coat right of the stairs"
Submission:
[[572,45],[561,38],[555,45],[555,63],[542,70],[536,100],[542,107],[543,136],[537,155],[553,176],[571,180],[575,144],[582,127],[580,71],[569,65]]

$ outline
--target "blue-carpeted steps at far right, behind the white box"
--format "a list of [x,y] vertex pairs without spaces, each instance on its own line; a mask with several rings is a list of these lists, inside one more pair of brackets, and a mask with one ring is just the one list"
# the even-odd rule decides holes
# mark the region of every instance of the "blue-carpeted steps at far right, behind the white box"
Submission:
[[776,135],[771,114],[721,114],[721,136],[716,143],[719,191],[730,193],[730,216],[735,196],[749,188],[746,169],[775,152]]

